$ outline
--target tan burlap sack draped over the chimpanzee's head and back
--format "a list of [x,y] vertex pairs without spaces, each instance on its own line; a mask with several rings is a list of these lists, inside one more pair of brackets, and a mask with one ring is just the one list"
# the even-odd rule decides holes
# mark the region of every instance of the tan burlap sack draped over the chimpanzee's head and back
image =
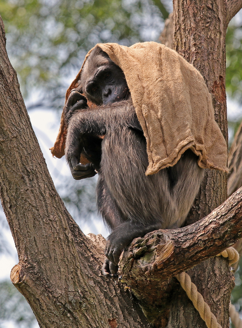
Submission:
[[[214,120],[211,94],[202,75],[191,64],[176,51],[156,42],[131,47],[116,43],[97,46],[125,74],[147,141],[147,175],[175,165],[188,148],[199,156],[201,168],[228,172],[227,145]],[[66,99],[78,86],[81,71],[68,88]],[[63,123],[62,119],[59,139],[52,148],[57,157]],[[63,150],[64,145],[61,146]]]

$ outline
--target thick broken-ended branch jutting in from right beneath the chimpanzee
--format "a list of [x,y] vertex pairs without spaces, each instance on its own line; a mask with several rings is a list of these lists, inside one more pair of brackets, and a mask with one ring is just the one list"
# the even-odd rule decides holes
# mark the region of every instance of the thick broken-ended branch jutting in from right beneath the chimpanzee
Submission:
[[172,277],[233,245],[242,236],[241,215],[242,188],[189,226],[136,238],[123,253],[121,271],[141,306],[158,307],[168,295]]

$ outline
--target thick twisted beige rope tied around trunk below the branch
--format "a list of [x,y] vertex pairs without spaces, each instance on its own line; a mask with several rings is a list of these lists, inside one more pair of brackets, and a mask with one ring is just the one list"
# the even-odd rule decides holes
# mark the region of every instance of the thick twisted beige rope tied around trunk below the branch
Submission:
[[[223,252],[219,253],[217,256],[223,256],[228,258],[229,265],[237,262],[239,260],[239,254],[238,252],[233,248],[229,247]],[[190,276],[185,273],[181,272],[178,275],[176,275],[177,280],[180,282],[181,287],[184,289],[184,291],[187,293],[187,296],[191,299],[193,302],[193,305],[195,309],[199,312],[201,318],[205,321],[208,328],[222,328],[220,324],[217,322],[216,317],[211,312],[210,307],[208,304],[204,301],[204,298],[202,295],[197,291],[197,288],[195,284],[191,281]],[[231,304],[230,309],[232,309],[236,312],[234,306]],[[230,310],[231,312],[231,310]],[[234,314],[234,312],[233,312]],[[233,317],[235,318],[235,316]],[[232,320],[232,318],[231,318]],[[232,320],[233,322],[233,320]],[[234,319],[235,322],[235,319]],[[239,314],[237,313],[236,316],[236,322],[238,322],[238,325],[234,324],[236,328],[242,328],[242,320],[239,318]],[[241,325],[239,325],[241,324]]]

